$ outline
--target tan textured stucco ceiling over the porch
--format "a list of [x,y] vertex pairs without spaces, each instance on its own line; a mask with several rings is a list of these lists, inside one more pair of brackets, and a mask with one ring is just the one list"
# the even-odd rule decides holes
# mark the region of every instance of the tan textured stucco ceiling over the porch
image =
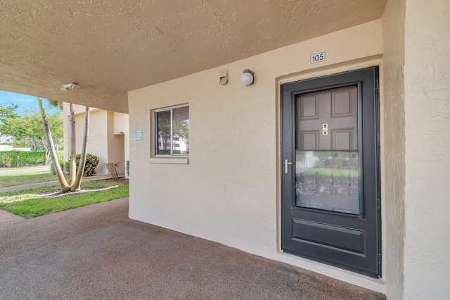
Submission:
[[375,20],[385,3],[3,0],[0,89],[127,112],[127,91]]

